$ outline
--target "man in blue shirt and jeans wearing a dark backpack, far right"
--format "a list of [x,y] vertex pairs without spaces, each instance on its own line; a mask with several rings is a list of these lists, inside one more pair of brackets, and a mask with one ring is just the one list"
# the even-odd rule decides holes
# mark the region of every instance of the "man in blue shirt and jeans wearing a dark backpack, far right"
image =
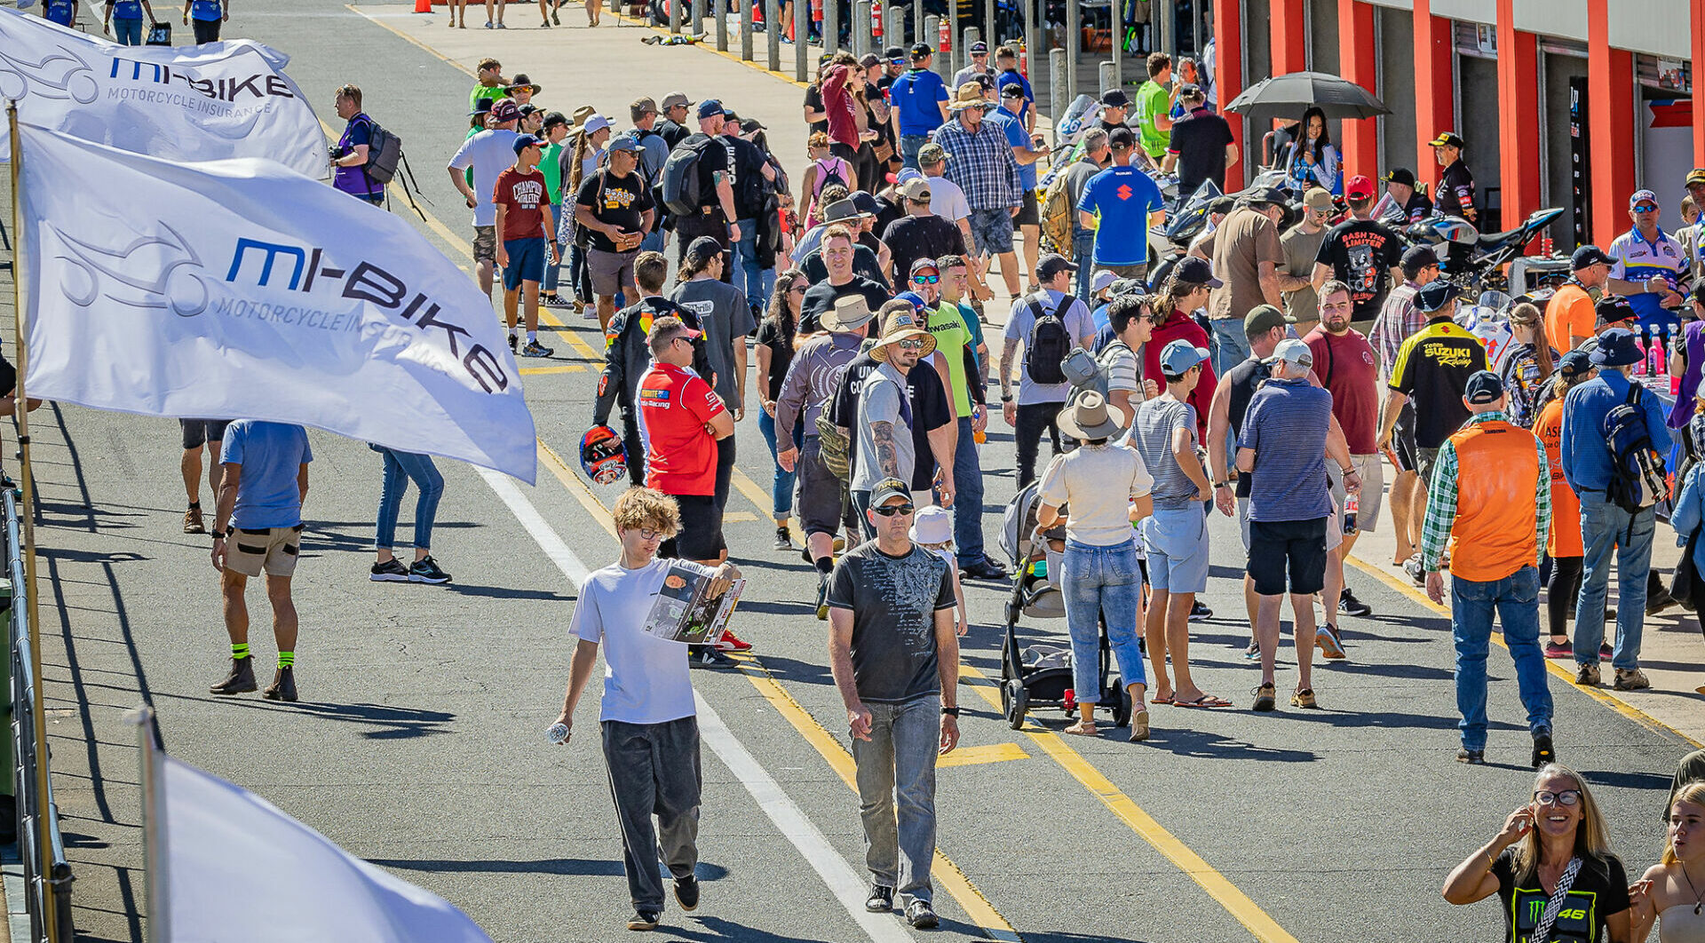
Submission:
[[[1604,593],[1610,587],[1610,554],[1616,551],[1616,668],[1615,687],[1650,687],[1640,670],[1640,633],[1645,628],[1645,580],[1652,563],[1656,510],[1628,513],[1604,489],[1611,479],[1611,454],[1604,443],[1604,416],[1628,402],[1628,373],[1645,358],[1633,331],[1611,327],[1599,334],[1591,362],[1599,368],[1563,399],[1563,431],[1558,452],[1563,479],[1581,496],[1581,595],[1575,600],[1575,684],[1599,684],[1599,645],[1604,641]],[[1664,409],[1657,396],[1639,392],[1640,413],[1654,443],[1664,437]]]

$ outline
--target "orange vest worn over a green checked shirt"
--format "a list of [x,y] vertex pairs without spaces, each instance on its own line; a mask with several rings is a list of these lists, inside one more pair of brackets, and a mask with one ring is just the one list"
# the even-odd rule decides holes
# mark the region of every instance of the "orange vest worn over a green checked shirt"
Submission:
[[1534,566],[1540,440],[1521,426],[1492,419],[1453,435],[1451,445],[1456,447],[1451,576],[1490,583]]

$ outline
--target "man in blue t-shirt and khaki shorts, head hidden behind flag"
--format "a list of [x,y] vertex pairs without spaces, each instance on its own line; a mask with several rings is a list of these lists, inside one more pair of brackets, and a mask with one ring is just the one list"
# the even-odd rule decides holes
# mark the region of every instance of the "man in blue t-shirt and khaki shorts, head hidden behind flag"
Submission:
[[259,419],[237,419],[225,426],[220,455],[225,476],[213,518],[213,570],[220,571],[230,674],[208,689],[211,694],[242,694],[256,687],[244,590],[249,576],[264,570],[266,599],[273,604],[273,638],[278,641],[278,674],[263,696],[269,701],[297,699],[297,604],[290,599],[290,576],[302,552],[302,498],[309,493],[312,460],[309,433],[302,426]]

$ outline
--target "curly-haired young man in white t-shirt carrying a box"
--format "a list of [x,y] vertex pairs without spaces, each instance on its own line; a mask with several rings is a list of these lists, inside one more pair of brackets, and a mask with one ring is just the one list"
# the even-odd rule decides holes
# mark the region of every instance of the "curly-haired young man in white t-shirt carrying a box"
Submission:
[[[622,829],[622,870],[634,916],[627,929],[651,929],[663,916],[663,878],[658,848],[675,878],[675,900],[684,911],[699,905],[699,721],[687,679],[687,646],[644,631],[646,617],[663,590],[670,566],[711,576],[709,593],[728,590],[740,571],[731,563],[716,570],[682,559],[656,559],[656,547],[680,530],[675,500],[651,488],[631,488],[610,512],[622,542],[619,561],[587,576],[575,602],[569,633],[580,639],[568,675],[563,714],[568,743],[575,706],[592,680],[604,645],[604,762],[610,769],[610,795]],[[656,825],[651,815],[656,815]]]

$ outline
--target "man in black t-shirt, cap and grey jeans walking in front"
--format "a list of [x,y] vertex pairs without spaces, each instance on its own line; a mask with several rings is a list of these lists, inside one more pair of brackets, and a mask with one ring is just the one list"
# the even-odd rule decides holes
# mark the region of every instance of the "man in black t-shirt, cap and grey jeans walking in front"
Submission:
[[[876,539],[847,551],[829,588],[829,667],[841,689],[858,766],[864,909],[936,926],[936,757],[958,745],[958,636],[953,576],[910,539],[912,491],[883,479],[864,512]],[[939,718],[939,720],[938,720]]]

